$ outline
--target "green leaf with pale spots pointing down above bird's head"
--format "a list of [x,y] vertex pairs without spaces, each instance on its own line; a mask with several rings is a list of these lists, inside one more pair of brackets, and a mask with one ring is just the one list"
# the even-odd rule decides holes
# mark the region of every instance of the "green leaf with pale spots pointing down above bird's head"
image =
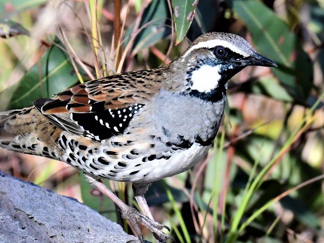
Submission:
[[172,0],[171,3],[176,32],[175,44],[178,44],[188,32],[198,0]]

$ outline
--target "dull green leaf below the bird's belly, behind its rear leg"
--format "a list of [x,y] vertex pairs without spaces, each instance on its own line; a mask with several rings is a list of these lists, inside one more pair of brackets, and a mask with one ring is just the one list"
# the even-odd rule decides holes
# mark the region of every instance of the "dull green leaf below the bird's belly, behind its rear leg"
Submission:
[[[110,188],[108,180],[105,180],[104,184]],[[80,187],[84,204],[98,211],[101,215],[104,215],[111,221],[117,222],[116,207],[114,202],[99,191],[95,190],[93,186],[86,181],[83,173],[80,173]]]

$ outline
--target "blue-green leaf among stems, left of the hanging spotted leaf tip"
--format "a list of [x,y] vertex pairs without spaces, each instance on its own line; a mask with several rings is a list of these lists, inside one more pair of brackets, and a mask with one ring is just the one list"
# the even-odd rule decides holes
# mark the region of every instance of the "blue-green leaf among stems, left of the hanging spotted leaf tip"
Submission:
[[[142,48],[147,48],[161,41],[171,31],[165,25],[168,17],[168,8],[165,0],[153,0],[144,10],[143,18],[140,23],[140,28],[144,27],[136,36],[133,49],[137,53]],[[134,24],[128,29],[125,34],[127,40],[124,45],[127,45],[134,30]]]

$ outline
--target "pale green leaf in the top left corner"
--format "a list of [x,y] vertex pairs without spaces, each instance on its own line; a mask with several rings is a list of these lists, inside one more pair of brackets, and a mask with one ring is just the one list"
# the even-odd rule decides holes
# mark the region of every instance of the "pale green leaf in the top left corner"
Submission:
[[47,0],[0,0],[0,16],[5,12],[21,11],[26,8],[39,6]]

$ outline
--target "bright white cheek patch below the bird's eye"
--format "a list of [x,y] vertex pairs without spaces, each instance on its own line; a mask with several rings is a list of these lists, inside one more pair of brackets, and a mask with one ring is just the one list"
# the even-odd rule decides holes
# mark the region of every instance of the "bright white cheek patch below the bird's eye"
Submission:
[[218,86],[220,78],[219,66],[203,65],[191,73],[191,90],[208,93]]

